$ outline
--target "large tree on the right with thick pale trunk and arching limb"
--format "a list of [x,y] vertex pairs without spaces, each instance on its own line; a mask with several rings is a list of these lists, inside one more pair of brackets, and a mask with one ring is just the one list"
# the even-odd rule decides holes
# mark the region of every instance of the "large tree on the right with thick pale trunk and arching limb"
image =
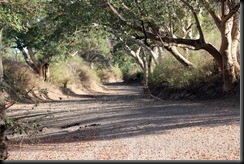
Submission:
[[[119,0],[113,2],[103,0],[100,6],[106,9],[100,13],[104,13],[103,17],[106,17],[107,20],[106,25],[111,28],[134,33],[137,35],[137,39],[144,39],[145,43],[151,41],[162,46],[183,46],[192,50],[203,49],[212,55],[221,70],[224,91],[231,91],[238,83],[240,71],[236,56],[239,51],[237,47],[240,31],[240,1],[170,0],[162,2],[135,0],[131,3],[129,1],[122,3]],[[184,12],[179,12],[182,10]],[[212,17],[221,33],[219,50],[205,41],[202,25],[198,18],[202,10],[207,11],[205,16]],[[199,38],[172,35],[175,31],[177,32],[179,25],[172,17],[183,19],[184,13],[189,14],[189,12],[193,17],[194,28],[197,30]],[[171,25],[169,26],[167,22],[170,22]]]

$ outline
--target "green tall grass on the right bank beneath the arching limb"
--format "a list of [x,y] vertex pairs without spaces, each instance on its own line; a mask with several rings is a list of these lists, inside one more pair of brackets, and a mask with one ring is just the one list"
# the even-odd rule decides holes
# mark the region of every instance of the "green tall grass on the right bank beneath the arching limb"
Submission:
[[204,51],[192,51],[184,56],[195,64],[196,68],[189,70],[166,53],[164,60],[150,74],[149,85],[167,84],[171,87],[183,88],[204,81],[213,74],[213,58]]

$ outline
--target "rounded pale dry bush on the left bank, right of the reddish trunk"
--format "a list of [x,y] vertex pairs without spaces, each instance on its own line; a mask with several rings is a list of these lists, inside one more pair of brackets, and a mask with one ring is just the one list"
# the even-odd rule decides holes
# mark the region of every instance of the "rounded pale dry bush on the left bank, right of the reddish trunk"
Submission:
[[49,81],[65,91],[73,92],[96,91],[100,86],[96,72],[78,56],[53,63]]

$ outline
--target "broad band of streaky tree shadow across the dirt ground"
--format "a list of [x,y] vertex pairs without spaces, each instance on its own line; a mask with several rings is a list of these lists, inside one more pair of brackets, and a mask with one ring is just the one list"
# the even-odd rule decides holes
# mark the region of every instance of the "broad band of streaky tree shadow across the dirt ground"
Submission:
[[11,113],[10,117],[35,120],[49,105],[50,117],[41,121],[45,128],[36,138],[38,143],[110,140],[168,133],[177,128],[240,124],[239,99],[159,101],[141,94],[140,87],[109,87],[117,92],[53,102],[51,107],[50,103],[43,103],[28,117]]

